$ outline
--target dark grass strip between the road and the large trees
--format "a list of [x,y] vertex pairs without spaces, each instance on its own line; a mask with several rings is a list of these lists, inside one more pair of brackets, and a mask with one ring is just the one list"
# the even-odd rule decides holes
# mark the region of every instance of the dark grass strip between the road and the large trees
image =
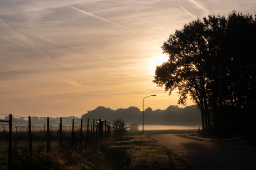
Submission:
[[240,150],[256,153],[256,147],[248,145],[248,142],[247,142],[248,138],[247,137],[236,137],[236,138],[230,138],[230,139],[224,139],[224,140],[215,140],[213,138],[199,137],[197,133],[181,134],[181,135],[178,135],[178,136],[186,137],[186,138],[192,138],[192,139],[199,140],[199,141],[214,141],[214,142],[220,143],[221,145],[235,147],[235,148],[238,148]]

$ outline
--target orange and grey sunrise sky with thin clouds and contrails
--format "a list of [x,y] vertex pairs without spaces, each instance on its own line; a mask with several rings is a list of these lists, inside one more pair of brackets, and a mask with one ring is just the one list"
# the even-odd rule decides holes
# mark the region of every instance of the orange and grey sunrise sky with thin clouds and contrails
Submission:
[[0,114],[142,111],[149,95],[156,96],[144,99],[144,109],[177,105],[175,92],[152,83],[156,65],[168,59],[166,38],[196,18],[254,14],[255,7],[255,0],[1,0]]

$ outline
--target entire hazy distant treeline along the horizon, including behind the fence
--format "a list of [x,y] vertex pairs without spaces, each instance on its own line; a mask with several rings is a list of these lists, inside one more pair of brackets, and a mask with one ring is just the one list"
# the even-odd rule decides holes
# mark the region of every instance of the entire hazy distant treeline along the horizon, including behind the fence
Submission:
[[[77,125],[80,125],[81,119],[83,123],[87,123],[87,119],[102,119],[110,121],[112,124],[113,120],[117,117],[124,120],[126,124],[137,123],[142,125],[142,111],[138,107],[130,106],[126,109],[112,110],[104,106],[99,106],[95,110],[88,111],[87,114],[82,117],[69,116],[62,117],[62,123],[66,126],[72,125],[72,119],[75,120]],[[9,115],[4,117],[3,120],[9,120]],[[12,117],[12,122],[15,125],[25,126],[28,125],[27,117]],[[31,116],[31,124],[35,126],[47,125],[47,117],[36,117]],[[58,126],[60,124],[60,117],[50,117],[50,124]],[[196,105],[186,106],[184,108],[177,105],[170,105],[165,110],[156,109],[152,110],[151,107],[147,107],[144,110],[144,125],[183,125],[183,126],[199,126],[201,125],[201,114],[200,110]]]

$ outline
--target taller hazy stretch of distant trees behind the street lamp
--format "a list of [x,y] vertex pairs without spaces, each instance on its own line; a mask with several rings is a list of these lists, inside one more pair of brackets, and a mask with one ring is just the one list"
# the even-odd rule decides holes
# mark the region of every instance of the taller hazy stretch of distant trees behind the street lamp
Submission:
[[[103,119],[116,120],[117,117],[125,123],[137,123],[142,125],[142,111],[138,107],[130,106],[126,109],[112,110],[104,106],[99,106],[95,110],[88,111],[82,115],[82,119]],[[152,110],[150,107],[144,110],[144,125],[201,125],[200,110],[196,105],[184,108],[170,105],[165,110]]]

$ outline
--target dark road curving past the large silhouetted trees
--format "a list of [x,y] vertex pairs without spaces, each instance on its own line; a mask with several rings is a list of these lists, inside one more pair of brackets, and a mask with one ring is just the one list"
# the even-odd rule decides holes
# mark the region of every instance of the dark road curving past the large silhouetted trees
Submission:
[[238,150],[216,142],[198,141],[175,134],[152,135],[161,146],[185,159],[195,169],[239,169],[256,170],[256,153]]

